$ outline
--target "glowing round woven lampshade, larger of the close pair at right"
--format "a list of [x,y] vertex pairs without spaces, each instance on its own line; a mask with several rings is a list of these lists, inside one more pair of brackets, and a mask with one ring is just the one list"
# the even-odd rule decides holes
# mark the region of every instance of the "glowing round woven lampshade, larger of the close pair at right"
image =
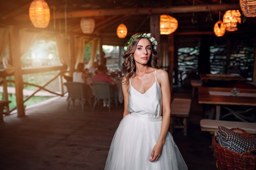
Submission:
[[223,16],[223,23],[226,31],[237,31],[237,23],[241,23],[241,13],[239,10],[228,10]]

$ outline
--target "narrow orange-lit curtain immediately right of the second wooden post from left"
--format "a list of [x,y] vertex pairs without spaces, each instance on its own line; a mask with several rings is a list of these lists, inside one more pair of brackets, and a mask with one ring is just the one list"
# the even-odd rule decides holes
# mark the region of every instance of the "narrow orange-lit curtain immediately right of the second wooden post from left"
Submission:
[[85,40],[84,38],[75,38],[74,40],[75,45],[74,45],[74,51],[75,51],[75,61],[76,65],[79,64],[80,62],[83,62],[83,55],[85,51]]

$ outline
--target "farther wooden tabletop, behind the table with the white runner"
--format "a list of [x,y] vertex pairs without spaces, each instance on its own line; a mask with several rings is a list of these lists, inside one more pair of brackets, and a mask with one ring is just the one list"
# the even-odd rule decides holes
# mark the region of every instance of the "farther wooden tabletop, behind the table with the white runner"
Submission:
[[230,74],[200,74],[202,81],[206,82],[208,80],[220,80],[220,81],[245,81],[245,77],[240,75],[230,75]]

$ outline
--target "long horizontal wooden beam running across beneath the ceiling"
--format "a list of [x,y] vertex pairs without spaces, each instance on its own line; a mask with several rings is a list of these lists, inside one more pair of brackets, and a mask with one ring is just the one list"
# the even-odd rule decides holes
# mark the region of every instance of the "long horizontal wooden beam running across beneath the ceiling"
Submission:
[[[204,5],[187,5],[187,6],[172,6],[168,8],[125,8],[125,9],[95,9],[83,11],[70,11],[67,13],[67,18],[83,18],[107,15],[143,15],[157,13],[190,13],[190,12],[207,12],[211,11],[226,11],[228,9],[240,9],[239,4],[204,4]],[[65,18],[64,13],[56,13],[55,18]],[[29,20],[29,15],[24,14],[16,17],[17,20]],[[53,16],[51,16],[53,19]]]

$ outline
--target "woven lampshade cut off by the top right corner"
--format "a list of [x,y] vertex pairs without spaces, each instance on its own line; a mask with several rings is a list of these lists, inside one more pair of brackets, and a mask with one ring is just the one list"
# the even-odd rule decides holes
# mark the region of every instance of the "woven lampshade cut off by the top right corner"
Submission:
[[240,0],[240,7],[246,17],[256,16],[256,0]]

